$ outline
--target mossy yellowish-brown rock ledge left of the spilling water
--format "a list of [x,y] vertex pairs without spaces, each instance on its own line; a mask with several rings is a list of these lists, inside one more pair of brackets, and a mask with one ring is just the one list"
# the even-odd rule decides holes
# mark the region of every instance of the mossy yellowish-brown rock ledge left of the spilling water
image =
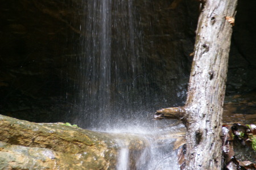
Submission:
[[93,132],[63,123],[36,124],[0,115],[0,169],[115,169],[117,139],[125,139],[137,154],[146,146],[136,135]]

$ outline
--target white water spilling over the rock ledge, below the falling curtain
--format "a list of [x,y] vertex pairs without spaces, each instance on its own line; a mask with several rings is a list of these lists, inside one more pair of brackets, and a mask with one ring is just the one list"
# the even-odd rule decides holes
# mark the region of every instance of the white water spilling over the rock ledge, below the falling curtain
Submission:
[[[162,124],[163,125],[163,124]],[[166,125],[163,125],[166,126]],[[117,139],[119,155],[117,169],[179,169],[177,163],[177,152],[174,150],[174,143],[177,135],[184,137],[184,126],[126,128],[109,130],[111,133],[125,133],[139,136],[145,143],[143,151],[129,149],[129,139]],[[174,135],[176,137],[174,137]],[[129,135],[127,135],[128,137]]]

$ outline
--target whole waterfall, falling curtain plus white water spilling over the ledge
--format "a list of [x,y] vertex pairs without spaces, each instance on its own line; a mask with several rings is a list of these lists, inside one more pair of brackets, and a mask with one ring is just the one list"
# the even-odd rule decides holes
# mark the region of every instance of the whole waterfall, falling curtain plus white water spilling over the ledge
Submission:
[[[86,1],[73,111],[79,114],[73,123],[90,130],[137,134],[148,143],[136,156],[125,141],[117,141],[119,170],[179,169],[172,150],[175,139],[168,135],[184,126],[152,121],[159,105],[176,103],[174,96],[167,97],[167,85],[156,83],[157,66],[148,60],[154,52],[154,36],[149,16],[141,14],[138,3],[150,6],[146,1]],[[151,36],[150,41],[145,36]],[[132,158],[137,158],[133,168]]]

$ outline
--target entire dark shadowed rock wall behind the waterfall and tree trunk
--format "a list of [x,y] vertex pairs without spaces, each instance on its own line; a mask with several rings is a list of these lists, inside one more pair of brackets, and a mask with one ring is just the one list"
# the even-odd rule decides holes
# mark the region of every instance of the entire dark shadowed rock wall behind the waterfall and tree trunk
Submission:
[[[176,104],[183,104],[199,3],[183,0],[174,8],[170,0],[148,1],[147,7],[143,2],[134,4],[144,14],[141,22],[145,23],[148,40],[144,45],[148,68],[154,66],[156,74],[151,83],[160,89],[164,81],[169,89],[166,95],[175,94],[172,98]],[[32,122],[68,121],[76,104],[78,49],[81,37],[86,36],[79,29],[85,15],[84,3],[82,0],[1,2],[0,114]],[[256,94],[255,8],[254,0],[238,1],[226,96]],[[154,42],[154,48],[150,42]],[[255,113],[255,105],[252,107]]]

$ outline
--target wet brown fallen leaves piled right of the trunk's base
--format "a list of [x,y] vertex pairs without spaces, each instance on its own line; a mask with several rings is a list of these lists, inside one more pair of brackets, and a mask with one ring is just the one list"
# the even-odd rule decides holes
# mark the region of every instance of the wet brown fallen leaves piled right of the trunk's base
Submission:
[[255,169],[255,125],[222,127],[224,169]]

